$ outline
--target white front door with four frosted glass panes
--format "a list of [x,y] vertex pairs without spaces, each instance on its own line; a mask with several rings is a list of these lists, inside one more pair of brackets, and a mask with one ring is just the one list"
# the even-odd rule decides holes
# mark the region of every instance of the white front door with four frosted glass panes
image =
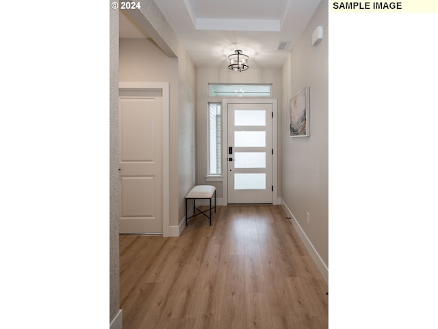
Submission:
[[272,103],[228,104],[228,203],[272,204]]

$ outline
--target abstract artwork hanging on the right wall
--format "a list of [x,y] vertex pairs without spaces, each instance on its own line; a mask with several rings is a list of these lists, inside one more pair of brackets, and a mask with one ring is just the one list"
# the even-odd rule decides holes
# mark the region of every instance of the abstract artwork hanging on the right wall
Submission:
[[310,87],[303,88],[290,99],[290,136],[309,136],[309,92]]

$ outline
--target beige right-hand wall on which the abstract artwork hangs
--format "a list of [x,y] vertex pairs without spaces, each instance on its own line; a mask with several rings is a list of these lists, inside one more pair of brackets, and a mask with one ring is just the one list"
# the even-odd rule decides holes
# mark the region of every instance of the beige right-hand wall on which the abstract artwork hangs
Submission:
[[[322,0],[292,56],[283,65],[282,198],[313,247],[329,266],[329,38],[328,4]],[[324,38],[311,47],[313,30]],[[289,136],[289,99],[310,86],[310,136]],[[307,224],[307,212],[310,225]]]

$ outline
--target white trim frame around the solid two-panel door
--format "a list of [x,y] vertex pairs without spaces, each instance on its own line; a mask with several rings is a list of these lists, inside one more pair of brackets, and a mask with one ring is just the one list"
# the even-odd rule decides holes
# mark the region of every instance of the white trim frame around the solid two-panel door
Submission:
[[163,170],[163,195],[162,195],[162,216],[163,216],[163,236],[169,236],[169,205],[170,205],[170,186],[169,186],[169,122],[170,122],[170,94],[169,82],[119,82],[119,90],[136,91],[161,91],[163,97],[163,117],[162,117],[162,170]]

